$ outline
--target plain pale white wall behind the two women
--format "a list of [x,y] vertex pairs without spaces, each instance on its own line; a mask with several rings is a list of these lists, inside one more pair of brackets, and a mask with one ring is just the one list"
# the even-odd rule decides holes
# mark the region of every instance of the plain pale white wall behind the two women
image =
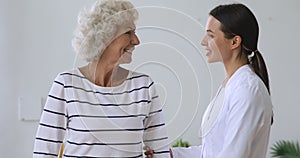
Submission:
[[[141,44],[126,67],[156,81],[171,140],[182,137],[198,145],[203,110],[224,78],[220,64],[206,64],[199,43],[209,10],[228,1],[131,1],[141,14],[137,23]],[[71,38],[78,11],[92,2],[0,0],[0,157],[32,157],[38,122],[19,119],[18,99],[29,101],[22,105],[33,109],[34,116],[55,75],[81,63],[72,51]],[[259,49],[269,68],[275,113],[270,144],[300,140],[300,11],[296,8],[300,2],[240,2],[254,11],[260,24]]]

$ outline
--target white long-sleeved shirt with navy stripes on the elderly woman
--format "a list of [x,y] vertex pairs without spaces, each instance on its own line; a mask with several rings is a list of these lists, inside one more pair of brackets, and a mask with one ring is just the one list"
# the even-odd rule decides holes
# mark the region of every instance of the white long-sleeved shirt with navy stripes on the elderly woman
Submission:
[[169,157],[162,105],[154,82],[129,72],[116,87],[100,87],[78,68],[60,73],[38,126],[33,157],[139,158],[145,144]]

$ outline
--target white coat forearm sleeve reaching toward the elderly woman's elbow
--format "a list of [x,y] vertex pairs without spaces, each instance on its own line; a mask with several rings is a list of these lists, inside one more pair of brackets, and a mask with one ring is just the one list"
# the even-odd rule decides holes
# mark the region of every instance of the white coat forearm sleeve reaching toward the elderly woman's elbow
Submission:
[[202,155],[201,146],[191,146],[188,148],[176,147],[171,150],[173,158],[200,158]]

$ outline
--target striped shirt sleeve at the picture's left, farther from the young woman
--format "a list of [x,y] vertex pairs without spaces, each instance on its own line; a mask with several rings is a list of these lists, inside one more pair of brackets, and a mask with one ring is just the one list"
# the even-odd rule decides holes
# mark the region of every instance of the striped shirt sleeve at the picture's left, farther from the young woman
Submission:
[[55,78],[49,91],[38,125],[34,142],[33,158],[57,157],[63,143],[67,124],[64,80]]

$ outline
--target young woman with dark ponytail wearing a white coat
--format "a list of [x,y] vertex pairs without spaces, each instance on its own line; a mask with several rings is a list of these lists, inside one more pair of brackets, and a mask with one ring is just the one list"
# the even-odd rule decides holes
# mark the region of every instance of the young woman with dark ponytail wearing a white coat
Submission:
[[243,4],[220,5],[209,13],[201,45],[209,63],[223,63],[226,78],[203,116],[202,145],[171,148],[171,157],[266,156],[272,103],[258,33],[254,14]]

